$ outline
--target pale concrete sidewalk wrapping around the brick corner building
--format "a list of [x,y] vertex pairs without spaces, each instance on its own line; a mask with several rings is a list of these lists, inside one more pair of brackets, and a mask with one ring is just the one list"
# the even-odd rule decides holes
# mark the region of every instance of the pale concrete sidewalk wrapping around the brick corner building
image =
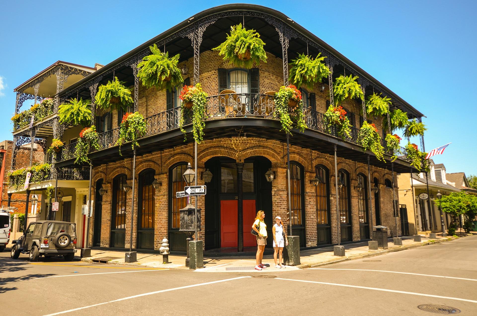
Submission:
[[[470,234],[462,234],[463,237]],[[312,250],[301,251],[301,264],[298,266],[287,266],[286,269],[275,268],[273,255],[266,255],[263,257],[263,264],[268,268],[261,271],[255,270],[255,256],[240,256],[240,257],[221,257],[221,258],[207,258],[204,257],[204,269],[197,269],[197,272],[284,272],[290,270],[298,270],[303,268],[310,268],[325,264],[337,263],[346,260],[359,259],[368,256],[375,256],[394,251],[400,251],[408,248],[414,248],[426,245],[432,242],[446,242],[455,239],[455,237],[441,237],[431,240],[428,237],[422,236],[421,242],[415,242],[412,237],[403,237],[403,245],[394,245],[393,239],[388,239],[388,249],[369,250],[368,242],[358,242],[344,245],[345,256],[339,257],[333,254],[333,247],[317,248]],[[93,262],[95,259],[105,258],[103,260],[111,264],[127,264],[141,267],[153,268],[172,268],[172,269],[189,269],[185,266],[186,256],[184,255],[169,255],[169,263],[162,263],[162,255],[150,253],[137,253],[136,263],[124,263],[124,252],[107,251],[107,250],[92,250],[91,257],[82,258],[84,262]],[[207,254],[205,253],[207,256]]]

